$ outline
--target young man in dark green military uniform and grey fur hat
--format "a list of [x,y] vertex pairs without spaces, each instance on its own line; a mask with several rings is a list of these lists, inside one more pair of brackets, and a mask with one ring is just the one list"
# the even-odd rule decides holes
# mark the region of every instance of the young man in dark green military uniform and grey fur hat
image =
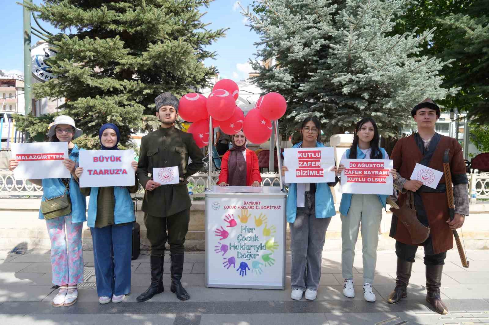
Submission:
[[[156,97],[156,117],[161,122],[158,130],[142,137],[137,164],[137,178],[145,188],[142,210],[146,234],[151,244],[151,285],[137,297],[138,302],[151,299],[164,291],[163,259],[165,244],[170,245],[170,290],[180,300],[190,298],[180,283],[183,271],[185,236],[190,221],[190,196],[186,179],[200,171],[203,154],[192,134],[175,127],[178,117],[178,99],[170,93]],[[192,163],[188,164],[188,158]],[[162,185],[153,181],[153,168],[178,166],[180,183]],[[168,233],[167,233],[168,232]]]

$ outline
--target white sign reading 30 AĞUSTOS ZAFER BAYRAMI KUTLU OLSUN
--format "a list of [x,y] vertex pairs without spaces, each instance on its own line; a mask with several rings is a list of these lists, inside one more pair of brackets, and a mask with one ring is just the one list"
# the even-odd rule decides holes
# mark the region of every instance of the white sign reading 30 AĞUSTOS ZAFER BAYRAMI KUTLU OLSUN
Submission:
[[392,160],[343,159],[341,163],[345,165],[341,173],[341,192],[392,195]]

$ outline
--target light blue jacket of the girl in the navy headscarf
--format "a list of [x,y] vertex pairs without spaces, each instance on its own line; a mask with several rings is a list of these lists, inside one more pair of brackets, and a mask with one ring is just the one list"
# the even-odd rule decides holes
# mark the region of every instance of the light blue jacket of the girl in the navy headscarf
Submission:
[[[89,220],[87,222],[89,227],[95,227],[95,219],[97,219],[97,198],[98,187],[92,187],[90,189]],[[114,186],[114,198],[114,224],[133,222],[135,220],[134,205],[127,187]]]

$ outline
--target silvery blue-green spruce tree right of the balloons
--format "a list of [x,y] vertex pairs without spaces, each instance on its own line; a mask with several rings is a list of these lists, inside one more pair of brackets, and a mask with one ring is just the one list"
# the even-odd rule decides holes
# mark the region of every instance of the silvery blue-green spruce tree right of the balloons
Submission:
[[[439,71],[449,63],[419,56],[432,30],[389,36],[408,0],[262,0],[244,12],[261,35],[257,56],[277,64],[253,67],[255,82],[282,93],[289,119],[311,113],[328,134],[353,131],[373,117],[384,135],[411,122],[410,110],[426,97],[454,94]],[[285,120],[287,122],[287,120]],[[290,121],[290,120],[289,120]]]

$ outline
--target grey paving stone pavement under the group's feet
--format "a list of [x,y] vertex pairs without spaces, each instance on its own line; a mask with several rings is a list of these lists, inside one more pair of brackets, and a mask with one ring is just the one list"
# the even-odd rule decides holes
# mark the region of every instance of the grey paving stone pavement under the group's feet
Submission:
[[[78,302],[54,308],[57,290],[51,283],[49,251],[21,255],[0,251],[0,325],[144,324],[144,325],[489,325],[489,250],[467,251],[470,268],[460,265],[456,250],[445,260],[442,297],[450,312],[439,315],[425,304],[422,249],[419,250],[408,287],[408,297],[389,305],[387,295],[395,285],[394,251],[378,251],[374,292],[376,303],[364,301],[361,284],[361,251],[356,252],[356,297],[342,293],[341,253],[324,252],[320,287],[315,301],[290,299],[290,254],[287,254],[285,290],[205,287],[205,255],[185,254],[182,283],[191,299],[180,302],[169,292],[169,264],[164,265],[166,291],[145,303],[137,295],[150,282],[149,256],[132,261],[131,294],[120,304],[100,305],[95,290],[93,254],[84,252],[85,283]],[[166,257],[165,261],[169,261]]]

